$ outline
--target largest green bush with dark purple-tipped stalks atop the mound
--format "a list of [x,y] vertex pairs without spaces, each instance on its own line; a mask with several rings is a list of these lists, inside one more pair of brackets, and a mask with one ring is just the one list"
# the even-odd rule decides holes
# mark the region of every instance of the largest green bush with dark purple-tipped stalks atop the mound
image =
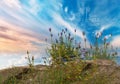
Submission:
[[[67,31],[67,29],[62,30],[58,34],[58,39],[53,40],[53,34],[50,31],[51,36],[51,48],[48,49],[50,56],[52,56],[52,61],[57,64],[61,64],[66,61],[74,60],[75,58],[80,58],[80,44],[75,43],[75,36]],[[75,30],[76,32],[76,30]]]

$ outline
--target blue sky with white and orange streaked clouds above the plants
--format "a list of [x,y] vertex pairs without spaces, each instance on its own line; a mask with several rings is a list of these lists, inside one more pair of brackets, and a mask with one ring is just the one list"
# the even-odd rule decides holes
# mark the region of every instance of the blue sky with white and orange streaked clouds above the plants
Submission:
[[93,43],[97,32],[112,34],[111,45],[120,47],[120,0],[0,0],[0,68],[26,65],[26,51],[43,63],[49,45],[49,28],[63,28]]

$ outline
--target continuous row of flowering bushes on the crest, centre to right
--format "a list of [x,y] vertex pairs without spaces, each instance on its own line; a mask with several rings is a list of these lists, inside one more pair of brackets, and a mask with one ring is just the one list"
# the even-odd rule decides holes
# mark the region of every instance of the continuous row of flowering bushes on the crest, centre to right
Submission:
[[[83,44],[77,43],[76,36],[72,36],[67,29],[62,29],[58,33],[58,39],[53,38],[52,30],[49,29],[51,36],[51,48],[48,49],[49,55],[52,57],[52,62],[61,64],[66,61],[75,60],[94,60],[94,59],[107,59],[113,60],[117,55],[116,50],[111,47],[108,41],[109,36],[102,39],[102,34],[97,33],[93,45],[87,45],[85,32],[83,32]],[[75,34],[76,34],[75,29]],[[82,46],[81,46],[82,45]]]

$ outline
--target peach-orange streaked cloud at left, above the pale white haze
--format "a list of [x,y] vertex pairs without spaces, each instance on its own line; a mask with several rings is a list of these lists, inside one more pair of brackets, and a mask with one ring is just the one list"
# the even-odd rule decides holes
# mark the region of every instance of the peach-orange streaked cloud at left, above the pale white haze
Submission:
[[0,20],[0,52],[36,51],[39,46],[34,45],[32,42],[45,44],[38,38],[39,35],[25,28],[23,29]]

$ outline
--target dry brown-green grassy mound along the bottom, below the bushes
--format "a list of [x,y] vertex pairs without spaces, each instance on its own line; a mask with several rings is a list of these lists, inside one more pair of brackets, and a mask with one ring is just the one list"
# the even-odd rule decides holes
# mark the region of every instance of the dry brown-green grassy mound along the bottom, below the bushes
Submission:
[[[65,67],[35,66],[16,67],[0,71],[2,84],[120,84],[120,67],[117,65],[95,65],[80,71],[74,63]],[[76,64],[75,64],[76,65]],[[95,65],[95,66],[94,66]],[[72,70],[67,70],[72,69]],[[78,69],[78,70],[77,70]],[[27,70],[25,72],[25,70]],[[83,70],[83,69],[82,69]],[[79,72],[79,73],[78,73]],[[79,75],[78,75],[79,74]],[[76,78],[75,78],[76,76]],[[80,78],[77,78],[79,77]],[[10,81],[12,79],[13,82]],[[5,81],[3,83],[3,81]],[[6,82],[7,81],[7,82]],[[8,81],[10,81],[8,83]]]

